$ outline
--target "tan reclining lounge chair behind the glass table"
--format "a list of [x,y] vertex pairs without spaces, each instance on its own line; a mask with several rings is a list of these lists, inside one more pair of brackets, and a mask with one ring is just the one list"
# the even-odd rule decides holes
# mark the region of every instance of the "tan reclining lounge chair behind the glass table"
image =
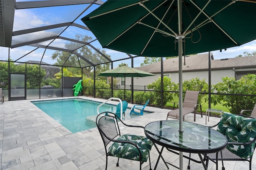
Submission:
[[[196,110],[198,110],[197,109],[198,106],[200,106],[201,117],[203,117],[202,106],[201,104],[197,104],[198,95],[199,95],[199,91],[186,91],[184,102],[182,105],[183,121],[184,121],[185,115],[189,113],[194,113],[194,121],[196,121]],[[168,119],[168,117],[179,119],[179,112],[180,112],[180,109],[169,111],[167,114],[166,120]]]

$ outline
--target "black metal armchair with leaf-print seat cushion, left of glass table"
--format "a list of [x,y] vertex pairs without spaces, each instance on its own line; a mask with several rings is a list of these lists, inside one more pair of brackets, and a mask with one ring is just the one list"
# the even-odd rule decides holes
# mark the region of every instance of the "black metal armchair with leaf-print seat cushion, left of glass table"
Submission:
[[150,150],[153,145],[152,141],[146,136],[134,134],[121,135],[118,122],[126,127],[144,128],[142,126],[127,125],[116,114],[111,112],[103,112],[97,115],[96,125],[106,151],[106,169],[108,166],[108,156],[114,156],[118,157],[116,166],[119,166],[119,158],[140,161],[140,170],[141,165],[149,158],[151,170]]

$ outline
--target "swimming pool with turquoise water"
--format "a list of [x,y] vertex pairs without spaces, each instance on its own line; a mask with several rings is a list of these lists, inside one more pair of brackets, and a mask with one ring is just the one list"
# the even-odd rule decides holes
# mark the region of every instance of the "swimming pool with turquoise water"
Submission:
[[[72,133],[95,128],[97,107],[101,104],[79,98],[32,101],[32,103]],[[99,108],[100,113],[103,111],[115,113],[116,105],[104,104]],[[132,114],[130,117],[130,108],[126,109],[125,115],[126,119],[140,116]]]

